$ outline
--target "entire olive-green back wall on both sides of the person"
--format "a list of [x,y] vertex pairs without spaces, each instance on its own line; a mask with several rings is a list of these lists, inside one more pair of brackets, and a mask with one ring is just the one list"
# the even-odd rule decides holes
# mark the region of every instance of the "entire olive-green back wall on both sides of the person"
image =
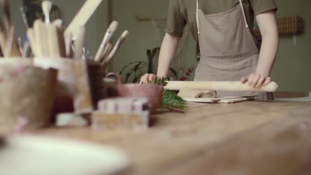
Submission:
[[[300,15],[305,20],[305,33],[298,36],[297,45],[293,45],[292,36],[282,37],[280,50],[272,73],[279,84],[280,91],[311,91],[311,6],[307,0],[276,0],[278,17]],[[146,59],[146,50],[158,47],[158,35],[151,22],[138,22],[135,15],[142,17],[166,17],[167,0],[114,0],[113,18],[120,22],[117,34],[128,29],[130,35],[114,60],[114,70],[120,71],[127,63]],[[194,59],[194,41],[188,48],[188,67],[196,65]]]

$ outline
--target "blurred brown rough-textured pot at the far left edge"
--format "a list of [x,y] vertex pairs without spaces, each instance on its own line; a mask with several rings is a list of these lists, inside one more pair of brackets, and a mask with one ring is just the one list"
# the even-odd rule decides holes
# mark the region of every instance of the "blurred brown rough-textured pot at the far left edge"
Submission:
[[0,134],[13,132],[19,118],[28,120],[25,130],[48,126],[56,80],[55,69],[26,67],[22,72],[1,82]]

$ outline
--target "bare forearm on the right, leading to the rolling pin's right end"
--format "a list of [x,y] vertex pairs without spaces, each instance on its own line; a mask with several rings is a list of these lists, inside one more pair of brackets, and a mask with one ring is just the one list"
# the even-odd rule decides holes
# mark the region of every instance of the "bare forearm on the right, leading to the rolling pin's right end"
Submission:
[[267,12],[257,17],[261,24],[262,43],[255,74],[270,76],[279,49],[279,34],[275,12]]

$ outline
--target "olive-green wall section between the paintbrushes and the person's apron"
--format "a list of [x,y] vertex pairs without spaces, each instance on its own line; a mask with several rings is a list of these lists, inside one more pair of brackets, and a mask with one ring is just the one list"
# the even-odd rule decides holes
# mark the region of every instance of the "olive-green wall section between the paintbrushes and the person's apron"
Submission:
[[[114,59],[114,71],[119,72],[129,62],[147,60],[146,50],[160,47],[159,35],[152,22],[139,22],[135,16],[166,18],[168,2],[167,0],[113,1],[113,19],[120,23],[116,36],[125,29],[129,30],[128,38]],[[193,42],[192,39],[191,42]],[[194,47],[190,47],[188,50],[187,64],[193,65],[195,64]]]

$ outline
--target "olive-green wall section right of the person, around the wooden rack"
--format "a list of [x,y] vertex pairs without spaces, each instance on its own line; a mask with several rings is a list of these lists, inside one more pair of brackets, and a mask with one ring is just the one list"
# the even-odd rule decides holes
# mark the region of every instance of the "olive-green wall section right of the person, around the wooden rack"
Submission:
[[281,37],[280,50],[272,78],[281,91],[311,92],[311,1],[276,0],[278,17],[302,16],[305,33],[298,36],[294,46],[293,37]]

